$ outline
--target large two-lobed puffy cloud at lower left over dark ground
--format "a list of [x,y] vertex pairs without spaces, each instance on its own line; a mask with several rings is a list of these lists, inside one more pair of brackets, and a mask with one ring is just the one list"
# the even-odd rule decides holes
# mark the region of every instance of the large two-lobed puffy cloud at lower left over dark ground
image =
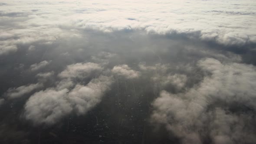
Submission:
[[86,114],[101,101],[112,84],[111,77],[100,76],[87,85],[75,85],[69,91],[64,88],[48,88],[33,94],[25,105],[25,117],[34,124],[55,124],[72,111]]

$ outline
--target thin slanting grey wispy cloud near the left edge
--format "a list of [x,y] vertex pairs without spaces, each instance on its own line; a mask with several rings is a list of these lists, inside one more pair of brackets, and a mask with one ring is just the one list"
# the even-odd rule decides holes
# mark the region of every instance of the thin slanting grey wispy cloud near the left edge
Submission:
[[26,95],[38,88],[42,88],[43,84],[41,83],[36,83],[36,84],[30,84],[30,85],[22,85],[18,88],[9,88],[7,90],[7,92],[5,93],[5,95],[7,96],[7,98],[19,98],[23,95]]

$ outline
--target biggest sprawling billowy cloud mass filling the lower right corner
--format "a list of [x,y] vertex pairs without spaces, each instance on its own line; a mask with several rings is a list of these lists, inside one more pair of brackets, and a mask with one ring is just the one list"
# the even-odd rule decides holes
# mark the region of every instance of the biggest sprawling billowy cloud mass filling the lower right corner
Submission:
[[153,103],[152,121],[164,124],[184,144],[203,143],[209,135],[215,144],[256,142],[252,122],[246,124],[251,114],[232,112],[234,104],[256,108],[255,67],[216,59],[200,60],[198,66],[209,76],[185,93],[162,91]]

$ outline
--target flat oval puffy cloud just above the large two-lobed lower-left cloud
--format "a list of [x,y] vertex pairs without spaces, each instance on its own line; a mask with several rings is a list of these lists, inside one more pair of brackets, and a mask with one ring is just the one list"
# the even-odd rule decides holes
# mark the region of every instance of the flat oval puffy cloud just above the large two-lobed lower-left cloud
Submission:
[[59,73],[60,78],[85,78],[90,76],[92,72],[101,71],[103,68],[97,63],[76,63],[68,65],[67,68]]

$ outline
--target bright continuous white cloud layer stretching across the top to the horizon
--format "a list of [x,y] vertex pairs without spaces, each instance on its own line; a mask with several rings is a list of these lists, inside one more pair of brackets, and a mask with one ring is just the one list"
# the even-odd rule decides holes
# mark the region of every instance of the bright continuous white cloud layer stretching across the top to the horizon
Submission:
[[[59,0],[44,3],[4,1],[6,5],[2,7],[0,18],[3,29],[0,54],[16,52],[17,46],[49,45],[79,38],[82,36],[80,29],[105,33],[142,30],[148,34],[200,39],[225,46],[250,47],[256,43],[255,11],[251,0],[161,0],[158,3],[97,0],[97,4],[82,0],[79,4],[60,3]],[[30,7],[32,3],[37,6],[36,10]],[[18,6],[19,9],[13,9]],[[56,11],[51,6],[65,10]],[[16,29],[10,29],[12,27]]]

